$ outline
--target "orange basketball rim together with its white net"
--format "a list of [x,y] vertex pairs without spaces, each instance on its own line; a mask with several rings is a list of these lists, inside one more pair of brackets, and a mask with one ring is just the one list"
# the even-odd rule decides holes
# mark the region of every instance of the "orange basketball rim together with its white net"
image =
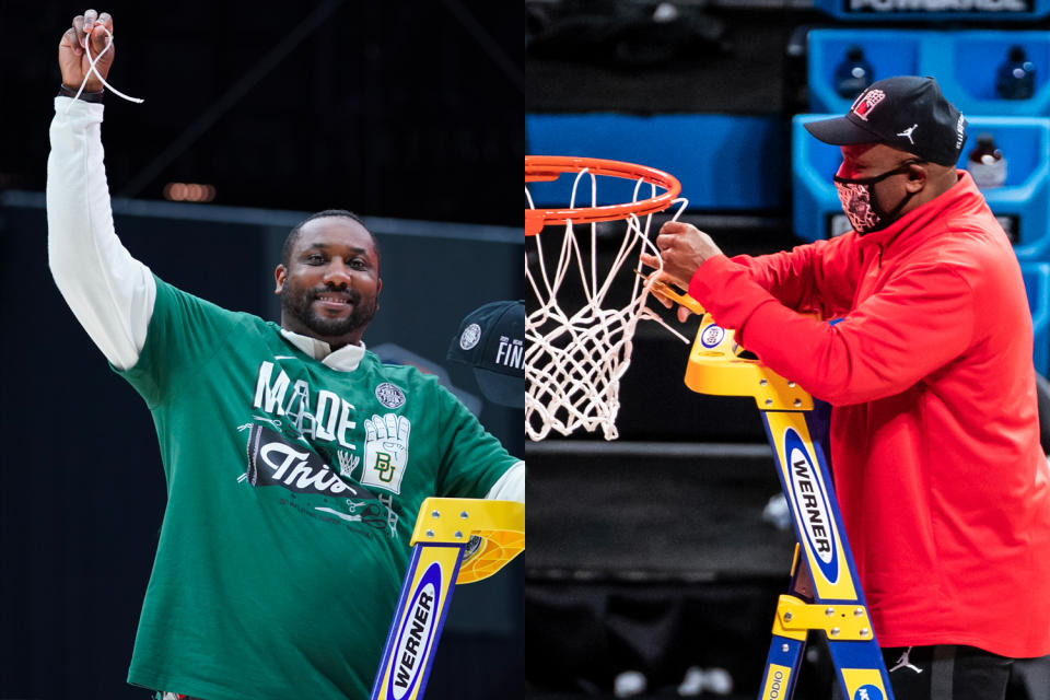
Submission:
[[[553,183],[573,173],[568,208],[535,206],[529,183]],[[598,183],[608,178],[633,182],[630,201],[598,203]],[[578,191],[586,180],[590,205],[578,207]],[[635,326],[646,317],[666,326],[645,307],[652,283],[640,276],[639,256],[646,252],[660,257],[649,237],[652,218],[680,203],[677,219],[688,203],[678,198],[680,192],[675,177],[644,165],[590,158],[525,158],[525,277],[535,295],[526,304],[525,319],[525,433],[529,440],[544,440],[551,430],[569,435],[580,428],[588,432],[600,428],[606,440],[617,438],[619,382],[630,365]],[[626,224],[622,234],[603,223],[617,221]],[[560,240],[553,232],[544,233],[551,224],[561,224]],[[639,275],[628,272],[629,279],[623,279],[618,273],[625,268]]]

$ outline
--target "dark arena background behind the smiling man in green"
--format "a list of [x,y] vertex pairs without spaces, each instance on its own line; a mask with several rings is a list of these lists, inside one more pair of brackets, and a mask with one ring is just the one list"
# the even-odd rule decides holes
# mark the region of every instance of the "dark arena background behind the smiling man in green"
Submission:
[[[116,226],[176,285],[277,319],[307,213],[383,246],[371,350],[445,375],[511,453],[522,411],[445,360],[460,319],[521,299],[520,8],[480,0],[94,5],[115,21],[103,141]],[[57,46],[86,5],[8,0],[0,74],[0,698],[144,700],[126,685],[164,513],[154,428],[60,298],[44,185]],[[459,587],[428,698],[523,697],[523,567]],[[325,615],[318,602],[317,615]],[[348,634],[353,631],[348,629]],[[293,700],[293,699],[287,699]]]

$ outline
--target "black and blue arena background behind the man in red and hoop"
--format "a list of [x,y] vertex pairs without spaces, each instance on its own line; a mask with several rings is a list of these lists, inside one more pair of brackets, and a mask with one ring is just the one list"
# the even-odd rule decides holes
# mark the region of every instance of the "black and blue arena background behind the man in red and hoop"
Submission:
[[[970,121],[959,165],[980,133],[994,137],[1008,161],[1006,182],[985,197],[1013,236],[1034,360],[1047,373],[1046,2],[526,0],[525,10],[527,152],[676,175],[690,200],[681,219],[730,255],[841,232],[831,185],[839,151],[818,148],[800,115],[844,114],[858,70],[868,80],[936,78]],[[1017,46],[1030,66],[1007,73],[1034,69],[1027,96],[995,84]],[[655,218],[654,232],[666,218]],[[599,269],[623,230],[600,226]],[[562,231],[545,229],[545,250]],[[580,226],[578,238],[587,231]],[[629,287],[633,276],[622,273],[620,287]],[[581,299],[559,296],[567,307]],[[526,304],[536,306],[532,296]],[[696,335],[696,316],[669,323]],[[755,401],[691,393],[682,382],[688,351],[642,322],[620,383],[619,439],[550,433],[526,445],[532,698],[758,695],[794,535],[763,515],[780,483]],[[1008,698],[1050,697],[1040,663],[1018,669]],[[826,700],[831,684],[826,648],[810,643],[795,697]]]

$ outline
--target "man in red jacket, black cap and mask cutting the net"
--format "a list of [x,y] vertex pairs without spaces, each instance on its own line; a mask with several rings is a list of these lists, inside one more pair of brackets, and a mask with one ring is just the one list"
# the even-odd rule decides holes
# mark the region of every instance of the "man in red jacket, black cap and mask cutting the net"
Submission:
[[670,222],[664,280],[832,405],[836,490],[898,700],[1001,700],[1014,658],[1050,653],[1050,471],[1019,266],[955,168],[966,120],[933,79],[882,80],[806,128],[842,149],[853,231],[730,259]]

